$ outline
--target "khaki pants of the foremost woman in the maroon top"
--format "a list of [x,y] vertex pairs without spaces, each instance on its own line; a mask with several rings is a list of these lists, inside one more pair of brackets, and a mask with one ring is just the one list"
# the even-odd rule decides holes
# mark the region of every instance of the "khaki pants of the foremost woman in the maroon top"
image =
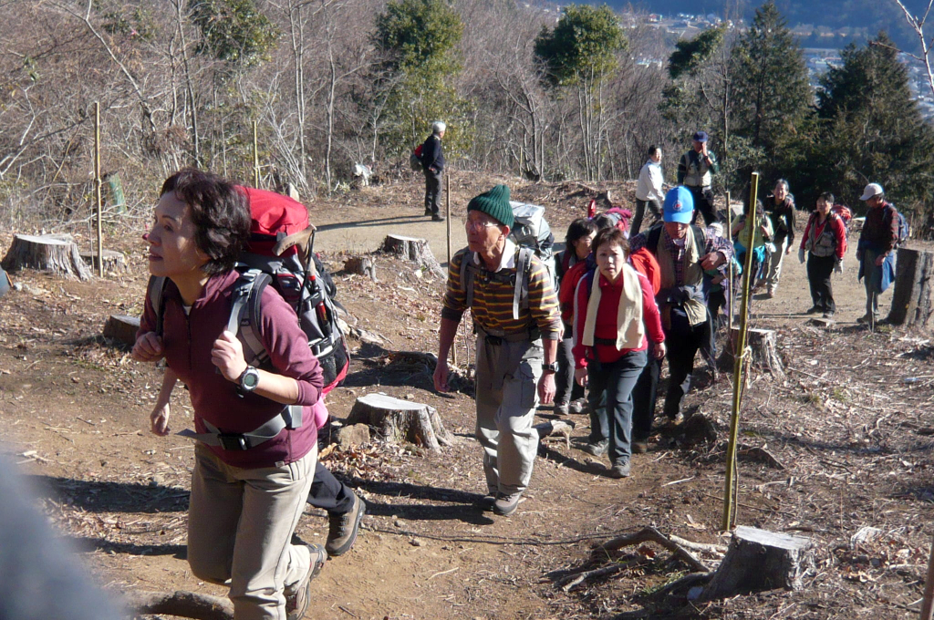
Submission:
[[308,548],[291,536],[317,461],[316,446],[288,465],[247,470],[195,445],[188,563],[206,582],[229,580],[236,620],[286,620],[286,585],[311,566]]

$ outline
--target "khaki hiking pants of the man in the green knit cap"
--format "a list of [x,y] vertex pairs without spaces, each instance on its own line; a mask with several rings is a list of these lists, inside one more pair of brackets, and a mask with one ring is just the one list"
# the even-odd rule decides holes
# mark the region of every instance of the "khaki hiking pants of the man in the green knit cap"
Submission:
[[483,446],[488,491],[524,491],[538,452],[532,428],[538,404],[538,379],[545,350],[542,341],[493,344],[476,339],[476,438]]

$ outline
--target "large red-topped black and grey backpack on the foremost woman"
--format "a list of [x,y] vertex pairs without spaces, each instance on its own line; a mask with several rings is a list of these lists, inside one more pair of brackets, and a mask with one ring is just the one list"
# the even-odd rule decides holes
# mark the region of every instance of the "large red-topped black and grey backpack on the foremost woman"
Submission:
[[[262,289],[270,284],[295,311],[308,346],[324,373],[322,393],[337,387],[350,365],[347,340],[337,322],[331,276],[314,255],[314,228],[308,211],[288,196],[273,191],[241,188],[249,200],[250,237],[238,257],[240,277],[233,284],[227,329],[243,344],[244,358],[262,366],[269,354],[260,333]],[[149,278],[149,301],[156,312],[156,331],[162,331],[163,277]]]

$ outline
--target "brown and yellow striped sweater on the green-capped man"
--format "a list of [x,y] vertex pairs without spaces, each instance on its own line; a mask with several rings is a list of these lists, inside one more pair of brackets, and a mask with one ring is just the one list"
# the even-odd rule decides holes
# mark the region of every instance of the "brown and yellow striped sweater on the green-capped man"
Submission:
[[[500,269],[497,273],[516,273],[518,249],[512,241],[506,241]],[[447,291],[441,317],[460,322],[467,309],[467,295],[460,285],[460,265],[465,260],[479,261],[475,252],[467,248],[451,258],[447,267]],[[559,340],[561,318],[558,312],[558,296],[551,284],[545,265],[533,256],[529,275],[529,307],[519,310],[518,319],[513,318],[513,294],[515,288],[508,282],[492,281],[481,269],[474,275],[474,304],[471,313],[474,322],[484,331],[507,334],[530,331],[538,327],[545,340]],[[511,275],[511,274],[510,274]],[[521,277],[521,275],[518,275]]]

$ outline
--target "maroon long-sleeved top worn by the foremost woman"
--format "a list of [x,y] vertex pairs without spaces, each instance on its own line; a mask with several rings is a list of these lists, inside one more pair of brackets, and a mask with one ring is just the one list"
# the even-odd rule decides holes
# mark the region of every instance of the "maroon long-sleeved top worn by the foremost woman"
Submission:
[[[188,386],[194,407],[194,427],[207,432],[207,420],[224,432],[249,432],[282,411],[282,404],[257,394],[242,398],[236,385],[217,372],[211,363],[214,341],[227,326],[231,312],[231,287],[236,272],[212,276],[191,312],[185,315],[181,295],[171,280],[163,294],[163,350],[165,359],[178,378]],[[139,333],[154,331],[155,312],[149,298],[140,321]],[[254,469],[273,467],[277,462],[290,463],[304,457],[318,441],[318,430],[311,406],[318,401],[324,385],[318,359],[308,348],[308,338],[299,329],[298,319],[289,304],[275,289],[262,291],[262,344],[269,352],[272,372],[298,381],[296,404],[304,405],[304,425],[296,430],[282,430],[276,437],[249,450],[224,450],[208,446],[222,461],[234,467]]]

